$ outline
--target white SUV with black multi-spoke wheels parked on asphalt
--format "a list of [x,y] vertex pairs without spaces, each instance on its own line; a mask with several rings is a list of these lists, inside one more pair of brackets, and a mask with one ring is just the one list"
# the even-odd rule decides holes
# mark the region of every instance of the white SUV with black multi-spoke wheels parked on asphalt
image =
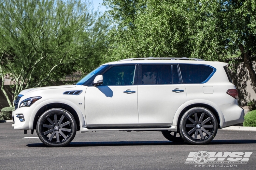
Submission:
[[14,129],[36,129],[47,146],[76,131],[161,131],[173,142],[204,144],[244,121],[227,63],[196,58],[130,58],[106,63],[74,85],[20,92]]

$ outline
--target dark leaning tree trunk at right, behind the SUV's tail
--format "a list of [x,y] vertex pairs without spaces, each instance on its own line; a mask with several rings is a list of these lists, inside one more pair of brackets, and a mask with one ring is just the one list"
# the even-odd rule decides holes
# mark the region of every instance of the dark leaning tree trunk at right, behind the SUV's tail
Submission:
[[241,50],[241,52],[243,54],[244,65],[249,71],[250,79],[251,79],[254,87],[256,87],[256,73],[253,69],[252,60],[250,58],[250,51],[244,52],[244,47],[242,44],[239,45],[239,49]]

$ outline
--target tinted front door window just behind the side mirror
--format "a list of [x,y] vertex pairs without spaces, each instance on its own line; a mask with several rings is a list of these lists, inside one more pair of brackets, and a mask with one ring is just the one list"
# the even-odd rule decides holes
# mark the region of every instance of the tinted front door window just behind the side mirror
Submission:
[[103,74],[103,86],[133,85],[135,65],[113,66]]

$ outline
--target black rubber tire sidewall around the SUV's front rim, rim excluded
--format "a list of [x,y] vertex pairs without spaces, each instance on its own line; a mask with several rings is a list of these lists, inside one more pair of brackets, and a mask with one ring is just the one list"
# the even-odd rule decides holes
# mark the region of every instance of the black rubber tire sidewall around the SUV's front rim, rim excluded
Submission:
[[[72,129],[71,129],[71,133],[70,133],[70,136],[68,137],[68,139],[66,139],[66,141],[63,141],[61,143],[53,143],[53,142],[49,142],[47,139],[45,139],[44,137],[44,134],[42,132],[42,122],[49,116],[53,115],[53,114],[61,114],[61,115],[64,115],[66,116],[70,123],[71,123],[71,126],[72,126]],[[68,112],[66,111],[65,109],[61,109],[61,108],[52,108],[52,109],[49,109],[47,110],[46,112],[44,112],[40,118],[38,119],[38,122],[37,122],[37,134],[38,134],[38,137],[39,139],[46,145],[46,146],[49,146],[49,147],[63,147],[63,146],[66,146],[68,145],[75,137],[75,134],[76,134],[76,122],[75,122],[75,119],[74,117]]]

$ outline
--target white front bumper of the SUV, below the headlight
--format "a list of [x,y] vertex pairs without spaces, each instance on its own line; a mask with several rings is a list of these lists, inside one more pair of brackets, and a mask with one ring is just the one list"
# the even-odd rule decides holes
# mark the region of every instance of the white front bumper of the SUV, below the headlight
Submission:
[[[13,128],[14,129],[21,129],[21,130],[28,130],[29,129],[29,121],[31,118],[31,114],[34,110],[34,108],[37,105],[33,104],[30,107],[21,107],[17,108],[15,111],[12,112],[12,118],[13,118]],[[25,121],[20,121],[20,119],[17,117],[17,115],[23,114]]]

